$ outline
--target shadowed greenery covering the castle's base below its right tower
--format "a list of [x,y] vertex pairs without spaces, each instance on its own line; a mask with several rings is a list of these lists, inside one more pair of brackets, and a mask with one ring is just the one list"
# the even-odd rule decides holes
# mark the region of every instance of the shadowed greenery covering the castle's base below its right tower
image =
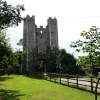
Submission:
[[36,60],[36,70],[52,73],[56,72],[58,55],[59,49],[56,47],[49,50],[46,54],[38,54]]

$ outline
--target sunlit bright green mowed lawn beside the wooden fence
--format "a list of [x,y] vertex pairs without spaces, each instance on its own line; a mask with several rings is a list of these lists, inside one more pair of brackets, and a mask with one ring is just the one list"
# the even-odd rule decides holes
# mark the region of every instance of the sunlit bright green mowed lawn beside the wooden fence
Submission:
[[[95,100],[94,94],[21,75],[0,77],[0,100]],[[100,96],[98,97],[100,100]]]

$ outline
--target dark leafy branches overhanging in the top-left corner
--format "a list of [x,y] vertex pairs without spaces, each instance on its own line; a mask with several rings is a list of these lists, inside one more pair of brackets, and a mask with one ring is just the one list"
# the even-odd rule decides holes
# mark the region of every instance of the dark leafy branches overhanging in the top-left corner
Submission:
[[23,5],[8,5],[6,1],[0,2],[0,29],[5,29],[12,26],[18,26],[18,23],[23,19],[21,11],[24,11]]

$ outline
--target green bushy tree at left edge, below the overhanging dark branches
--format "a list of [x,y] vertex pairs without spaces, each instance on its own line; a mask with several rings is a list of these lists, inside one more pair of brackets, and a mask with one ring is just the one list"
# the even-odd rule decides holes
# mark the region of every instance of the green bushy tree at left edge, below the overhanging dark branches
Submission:
[[2,73],[8,73],[9,70],[19,66],[18,58],[19,54],[13,52],[6,31],[2,31],[0,33],[0,70]]

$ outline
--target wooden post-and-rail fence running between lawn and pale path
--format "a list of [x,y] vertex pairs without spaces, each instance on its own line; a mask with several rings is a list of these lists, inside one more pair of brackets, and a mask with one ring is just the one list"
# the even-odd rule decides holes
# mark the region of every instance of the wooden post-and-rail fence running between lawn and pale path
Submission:
[[57,73],[45,73],[44,79],[60,83],[67,86],[72,86],[82,90],[88,90],[92,93],[97,92],[100,94],[100,84],[98,84],[96,90],[96,82],[93,81],[93,77],[83,77],[79,75],[57,74]]

